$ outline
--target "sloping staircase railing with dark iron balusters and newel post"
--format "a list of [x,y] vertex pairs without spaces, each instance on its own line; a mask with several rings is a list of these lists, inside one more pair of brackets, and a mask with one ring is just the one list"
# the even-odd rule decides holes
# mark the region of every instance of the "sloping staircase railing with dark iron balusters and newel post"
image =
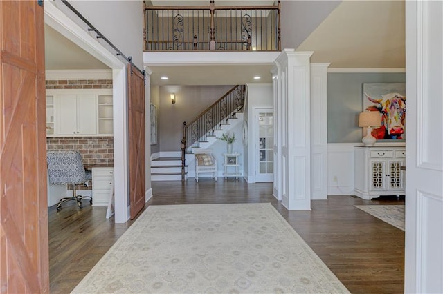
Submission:
[[242,112],[244,106],[245,85],[237,85],[223,97],[215,101],[189,124],[183,122],[183,137],[181,139],[181,175],[185,176],[186,153],[192,153],[192,148],[199,148],[202,141],[215,136],[215,130],[221,125],[228,124],[235,113]]

